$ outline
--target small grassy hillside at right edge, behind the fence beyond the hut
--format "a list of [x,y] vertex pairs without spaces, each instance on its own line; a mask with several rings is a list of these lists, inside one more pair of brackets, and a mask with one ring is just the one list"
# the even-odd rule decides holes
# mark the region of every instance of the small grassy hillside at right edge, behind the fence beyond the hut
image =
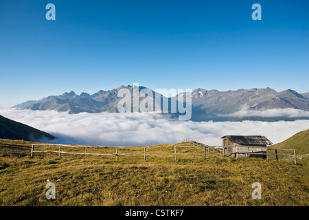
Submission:
[[284,142],[275,144],[271,147],[295,149],[297,154],[297,162],[301,164],[309,164],[309,129],[306,131],[301,131]]

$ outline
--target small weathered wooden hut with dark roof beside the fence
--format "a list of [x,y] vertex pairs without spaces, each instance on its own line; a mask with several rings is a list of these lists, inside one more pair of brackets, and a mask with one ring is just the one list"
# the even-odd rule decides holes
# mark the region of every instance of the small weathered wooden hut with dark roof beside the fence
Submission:
[[225,135],[222,138],[223,153],[229,157],[263,157],[266,147],[273,144],[262,135]]

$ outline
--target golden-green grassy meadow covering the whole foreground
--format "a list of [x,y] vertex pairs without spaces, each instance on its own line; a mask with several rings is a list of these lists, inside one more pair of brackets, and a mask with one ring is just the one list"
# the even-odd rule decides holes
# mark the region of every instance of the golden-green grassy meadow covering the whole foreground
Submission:
[[[0,151],[27,155],[0,155],[0,206],[309,205],[307,164],[221,156],[204,160],[202,155],[182,155],[174,161],[173,144],[148,146],[148,153],[164,157],[149,156],[147,161],[142,155],[119,156],[117,161],[113,156],[58,158],[56,153],[30,157],[30,146],[31,142],[0,140]],[[53,180],[56,199],[40,199],[47,191],[46,180],[60,176]],[[262,199],[251,198],[256,181],[262,184]]]

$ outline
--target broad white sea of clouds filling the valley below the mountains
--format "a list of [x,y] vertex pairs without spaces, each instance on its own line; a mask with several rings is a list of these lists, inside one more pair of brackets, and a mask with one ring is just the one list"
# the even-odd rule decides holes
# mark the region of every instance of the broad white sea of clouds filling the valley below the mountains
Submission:
[[223,135],[265,135],[271,142],[286,140],[309,129],[309,120],[291,122],[192,122],[171,120],[157,113],[79,113],[0,109],[0,115],[33,126],[59,139],[58,143],[98,145],[173,144],[184,137],[221,145]]

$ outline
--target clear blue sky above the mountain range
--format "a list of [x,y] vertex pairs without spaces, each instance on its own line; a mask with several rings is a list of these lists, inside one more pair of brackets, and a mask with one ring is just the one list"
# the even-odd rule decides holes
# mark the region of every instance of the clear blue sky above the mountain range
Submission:
[[308,14],[305,0],[0,1],[0,105],[133,83],[304,93]]

